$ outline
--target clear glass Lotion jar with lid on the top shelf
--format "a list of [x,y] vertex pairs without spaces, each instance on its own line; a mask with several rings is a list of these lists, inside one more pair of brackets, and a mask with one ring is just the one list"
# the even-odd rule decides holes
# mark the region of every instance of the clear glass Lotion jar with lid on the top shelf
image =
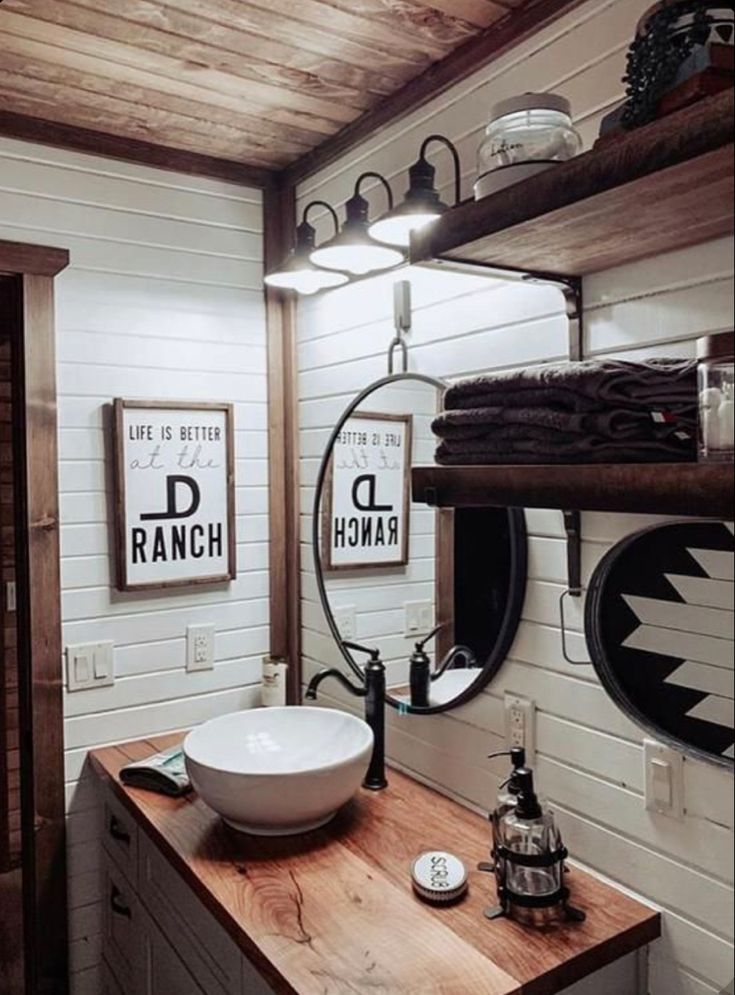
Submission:
[[493,107],[485,134],[477,200],[567,162],[582,149],[571,105],[555,93],[526,93],[501,101]]

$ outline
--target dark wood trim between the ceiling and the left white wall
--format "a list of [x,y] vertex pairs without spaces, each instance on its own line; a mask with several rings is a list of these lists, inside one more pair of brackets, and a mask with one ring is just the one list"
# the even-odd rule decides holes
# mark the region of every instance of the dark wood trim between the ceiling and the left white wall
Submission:
[[14,114],[12,111],[0,111],[0,135],[51,145],[54,148],[69,149],[72,152],[86,152],[106,159],[153,166],[174,173],[240,183],[258,189],[272,186],[277,175],[269,169],[258,166],[247,166],[229,159],[218,159],[215,156],[187,152],[185,149],[174,149],[140,139],[93,131],[91,128],[59,124],[26,114]]

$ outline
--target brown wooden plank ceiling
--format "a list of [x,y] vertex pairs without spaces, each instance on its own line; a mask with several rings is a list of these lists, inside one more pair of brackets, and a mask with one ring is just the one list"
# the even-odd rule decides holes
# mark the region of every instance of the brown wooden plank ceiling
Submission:
[[525,0],[0,0],[0,113],[264,169]]

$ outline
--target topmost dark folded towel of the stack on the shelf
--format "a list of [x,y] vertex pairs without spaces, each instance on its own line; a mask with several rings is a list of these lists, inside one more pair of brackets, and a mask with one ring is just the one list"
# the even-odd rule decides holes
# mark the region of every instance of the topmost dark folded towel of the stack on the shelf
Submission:
[[680,409],[696,417],[697,364],[691,360],[588,360],[498,373],[456,384],[447,410],[484,407],[551,408],[576,413]]

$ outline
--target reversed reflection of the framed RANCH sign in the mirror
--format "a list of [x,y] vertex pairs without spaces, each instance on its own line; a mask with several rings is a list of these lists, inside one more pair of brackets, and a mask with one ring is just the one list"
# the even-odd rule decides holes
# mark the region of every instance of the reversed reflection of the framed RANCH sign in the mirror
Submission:
[[325,488],[325,570],[406,566],[412,443],[411,415],[360,412],[345,423]]

